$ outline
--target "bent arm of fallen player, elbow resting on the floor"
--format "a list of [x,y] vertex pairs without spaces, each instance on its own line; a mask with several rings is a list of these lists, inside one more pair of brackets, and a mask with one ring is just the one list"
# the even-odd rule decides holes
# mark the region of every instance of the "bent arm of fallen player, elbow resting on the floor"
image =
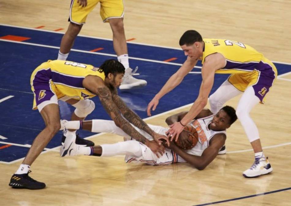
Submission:
[[182,157],[185,161],[189,162],[198,170],[203,170],[217,156],[220,148],[225,144],[225,140],[225,134],[221,133],[214,135],[210,140],[210,146],[203,151],[201,156],[188,154],[172,142],[170,149],[172,149],[176,154],[178,154],[180,157]]

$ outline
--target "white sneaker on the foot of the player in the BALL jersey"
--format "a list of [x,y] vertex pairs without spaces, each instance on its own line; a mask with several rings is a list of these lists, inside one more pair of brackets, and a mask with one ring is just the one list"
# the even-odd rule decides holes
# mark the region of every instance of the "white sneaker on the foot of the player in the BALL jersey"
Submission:
[[244,177],[258,177],[260,175],[265,175],[273,171],[268,157],[257,157],[255,162],[251,165],[251,168],[244,171]]

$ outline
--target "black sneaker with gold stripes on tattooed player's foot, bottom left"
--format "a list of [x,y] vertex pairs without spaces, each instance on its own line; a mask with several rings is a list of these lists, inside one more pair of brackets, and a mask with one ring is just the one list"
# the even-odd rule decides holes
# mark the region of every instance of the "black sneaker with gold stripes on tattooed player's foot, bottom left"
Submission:
[[26,174],[13,174],[10,179],[9,186],[12,188],[26,188],[29,190],[40,190],[45,188],[44,183],[38,182],[28,176],[30,172],[31,171],[29,170]]

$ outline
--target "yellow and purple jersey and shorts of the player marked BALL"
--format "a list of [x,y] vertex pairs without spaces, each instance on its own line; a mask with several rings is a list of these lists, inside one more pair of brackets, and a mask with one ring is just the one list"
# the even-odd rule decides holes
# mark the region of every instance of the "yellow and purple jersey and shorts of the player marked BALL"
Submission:
[[255,96],[264,103],[266,93],[277,77],[275,65],[263,54],[241,42],[227,39],[203,39],[203,41],[205,46],[202,64],[210,54],[222,54],[226,59],[225,67],[216,70],[215,73],[231,74],[228,81],[241,92],[252,86]]

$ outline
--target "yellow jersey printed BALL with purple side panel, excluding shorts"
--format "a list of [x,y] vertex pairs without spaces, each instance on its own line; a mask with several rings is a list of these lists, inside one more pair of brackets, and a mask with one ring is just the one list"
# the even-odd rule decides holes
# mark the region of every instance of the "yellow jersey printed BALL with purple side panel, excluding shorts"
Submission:
[[249,45],[228,39],[203,39],[203,41],[202,64],[207,56],[214,53],[220,53],[226,59],[225,67],[216,73],[235,74],[254,70],[273,70],[277,73],[274,64]]

